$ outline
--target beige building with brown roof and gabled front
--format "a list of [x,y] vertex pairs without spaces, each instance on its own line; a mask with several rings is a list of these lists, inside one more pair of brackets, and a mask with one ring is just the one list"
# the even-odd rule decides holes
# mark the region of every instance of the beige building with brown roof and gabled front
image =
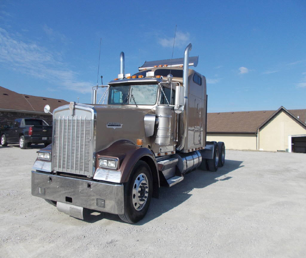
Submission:
[[226,149],[306,153],[306,109],[207,114],[207,141]]

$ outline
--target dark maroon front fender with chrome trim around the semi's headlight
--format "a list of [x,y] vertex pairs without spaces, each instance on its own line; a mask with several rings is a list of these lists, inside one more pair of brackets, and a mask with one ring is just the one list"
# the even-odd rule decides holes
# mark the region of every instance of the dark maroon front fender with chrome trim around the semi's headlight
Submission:
[[[118,170],[112,170],[99,167],[99,158],[118,158]],[[157,164],[155,156],[150,149],[137,146],[130,141],[120,140],[114,142],[108,148],[96,153],[96,168],[94,179],[125,183],[129,181],[132,169],[136,162],[143,159],[147,162],[149,160],[150,168],[152,170],[152,177],[158,176]]]

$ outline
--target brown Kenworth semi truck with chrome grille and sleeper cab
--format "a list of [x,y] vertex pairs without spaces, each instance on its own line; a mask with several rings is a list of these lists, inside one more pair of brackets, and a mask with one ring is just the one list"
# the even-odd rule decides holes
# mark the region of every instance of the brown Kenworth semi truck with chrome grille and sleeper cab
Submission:
[[52,145],[38,152],[32,195],[79,219],[89,209],[136,223],[161,186],[222,167],[224,143],[206,142],[206,79],[189,69],[198,64],[191,48],[183,58],[146,61],[132,76],[121,52],[118,78],[99,86],[106,104],[97,86],[91,104],[54,109]]

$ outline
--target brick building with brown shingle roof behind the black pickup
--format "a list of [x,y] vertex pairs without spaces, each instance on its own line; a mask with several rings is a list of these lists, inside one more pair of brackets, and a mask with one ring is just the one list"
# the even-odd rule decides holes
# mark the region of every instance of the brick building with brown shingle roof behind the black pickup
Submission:
[[41,118],[51,124],[51,114],[43,111],[47,104],[50,106],[50,112],[53,112],[54,109],[69,102],[63,99],[20,94],[0,86],[0,127],[22,117]]

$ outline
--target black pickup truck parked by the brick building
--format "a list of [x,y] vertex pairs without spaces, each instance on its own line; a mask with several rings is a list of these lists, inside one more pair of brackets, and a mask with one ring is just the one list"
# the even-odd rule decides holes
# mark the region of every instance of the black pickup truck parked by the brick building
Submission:
[[26,149],[32,143],[47,146],[52,142],[52,125],[42,119],[19,118],[11,125],[4,126],[0,134],[2,146],[8,143],[19,143],[21,149]]

